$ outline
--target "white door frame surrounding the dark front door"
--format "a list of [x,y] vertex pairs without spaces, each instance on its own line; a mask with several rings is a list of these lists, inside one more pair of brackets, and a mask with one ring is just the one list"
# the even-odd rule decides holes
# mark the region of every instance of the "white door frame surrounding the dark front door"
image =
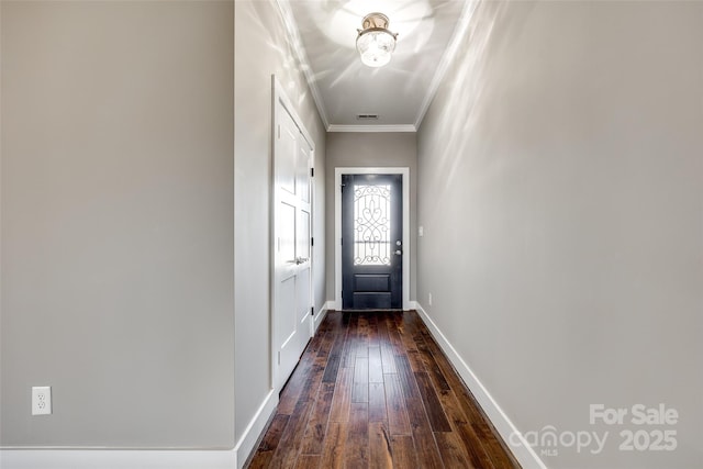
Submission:
[[334,168],[334,309],[342,310],[342,175],[401,175],[403,179],[403,310],[410,310],[410,168]]

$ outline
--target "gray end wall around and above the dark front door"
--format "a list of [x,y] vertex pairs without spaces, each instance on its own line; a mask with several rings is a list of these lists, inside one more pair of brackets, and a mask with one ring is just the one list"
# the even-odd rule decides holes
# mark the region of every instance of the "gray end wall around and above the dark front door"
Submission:
[[417,146],[414,133],[336,133],[327,134],[327,300],[334,301],[334,192],[335,168],[408,167],[410,168],[410,300],[415,299],[417,245]]

